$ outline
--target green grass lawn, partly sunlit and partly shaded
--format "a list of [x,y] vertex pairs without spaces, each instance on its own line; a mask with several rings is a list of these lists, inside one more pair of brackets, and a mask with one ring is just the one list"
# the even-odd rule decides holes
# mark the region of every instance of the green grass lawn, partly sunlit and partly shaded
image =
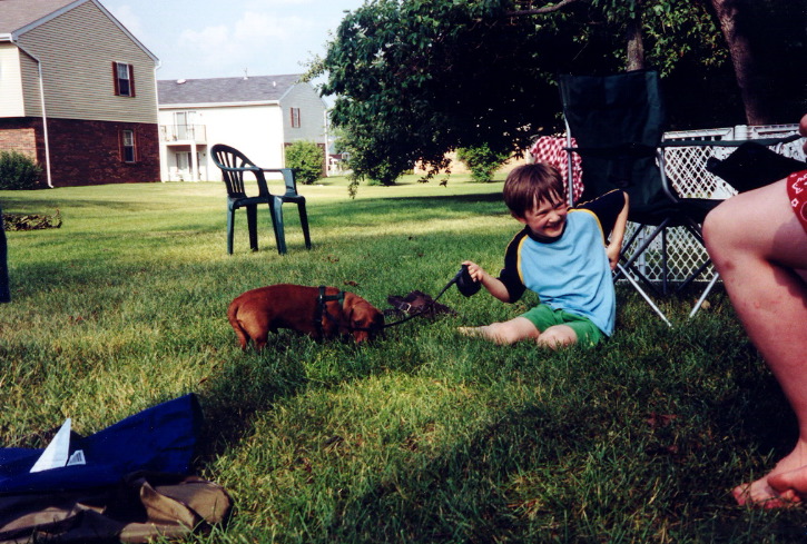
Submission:
[[240,214],[226,254],[220,184],[0,191],[6,212],[63,218],[8,233],[0,444],[41,446],[65,417],[90,434],[194,392],[198,473],[235,511],[189,542],[803,542],[803,508],[729,494],[789,451],[795,424],[720,293],[692,320],[697,293],[662,300],[669,329],[620,285],[617,333],[588,350],[462,337],[535,299],[453,288],[441,301],[457,316],[370,346],[282,332],[264,353],[237,347],[226,308],[247,289],[327,284],[383,309],[436,295],[463,259],[498,271],[520,227],[501,185],[305,186],[314,248],[287,206],[285,256],[268,210],[260,250]]

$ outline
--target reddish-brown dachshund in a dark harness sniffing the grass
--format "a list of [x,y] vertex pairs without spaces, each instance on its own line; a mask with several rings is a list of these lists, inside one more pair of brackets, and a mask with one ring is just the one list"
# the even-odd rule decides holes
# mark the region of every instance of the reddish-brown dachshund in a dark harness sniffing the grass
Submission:
[[319,340],[352,334],[357,342],[373,339],[384,327],[384,315],[368,301],[336,287],[278,284],[237,296],[227,309],[238,344],[246,349],[252,339],[260,350],[269,332],[291,328]]

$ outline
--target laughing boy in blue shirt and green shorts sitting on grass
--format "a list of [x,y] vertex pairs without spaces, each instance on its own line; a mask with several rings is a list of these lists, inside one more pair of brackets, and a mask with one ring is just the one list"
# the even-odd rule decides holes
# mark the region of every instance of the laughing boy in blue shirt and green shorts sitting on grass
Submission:
[[624,237],[628,195],[613,190],[569,208],[558,170],[534,164],[510,172],[504,204],[525,227],[508,246],[500,276],[463,264],[498,299],[515,303],[530,289],[541,304],[509,322],[460,332],[498,344],[532,338],[552,349],[578,342],[593,346],[610,336],[617,314],[611,270]]

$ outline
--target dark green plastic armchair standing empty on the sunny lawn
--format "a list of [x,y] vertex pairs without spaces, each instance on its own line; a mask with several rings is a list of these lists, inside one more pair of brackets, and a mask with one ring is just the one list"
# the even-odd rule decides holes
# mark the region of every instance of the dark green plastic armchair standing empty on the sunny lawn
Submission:
[[[299,211],[299,222],[303,227],[305,247],[311,249],[311,235],[308,233],[308,215],[305,208],[305,197],[297,192],[294,170],[291,168],[260,168],[237,149],[216,144],[210,149],[213,161],[222,170],[222,179],[227,188],[227,253],[233,254],[233,238],[235,230],[235,211],[245,208],[247,212],[247,227],[249,230],[249,247],[253,251],[258,249],[257,207],[267,204],[272,214],[272,226],[275,231],[277,253],[286,253],[285,225],[283,220],[283,204],[293,202]],[[283,176],[285,192],[272,195],[266,184],[265,172],[277,172]],[[245,175],[255,178],[258,194],[248,196],[245,186]],[[249,179],[249,178],[247,178]]]

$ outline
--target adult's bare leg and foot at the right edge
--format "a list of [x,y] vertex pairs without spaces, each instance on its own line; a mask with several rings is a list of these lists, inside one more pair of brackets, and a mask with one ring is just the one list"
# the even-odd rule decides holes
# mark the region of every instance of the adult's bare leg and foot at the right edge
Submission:
[[799,425],[793,452],[734,496],[769,507],[807,500],[807,285],[797,271],[807,269],[807,234],[785,181],[721,204],[707,217],[703,235],[731,304]]

